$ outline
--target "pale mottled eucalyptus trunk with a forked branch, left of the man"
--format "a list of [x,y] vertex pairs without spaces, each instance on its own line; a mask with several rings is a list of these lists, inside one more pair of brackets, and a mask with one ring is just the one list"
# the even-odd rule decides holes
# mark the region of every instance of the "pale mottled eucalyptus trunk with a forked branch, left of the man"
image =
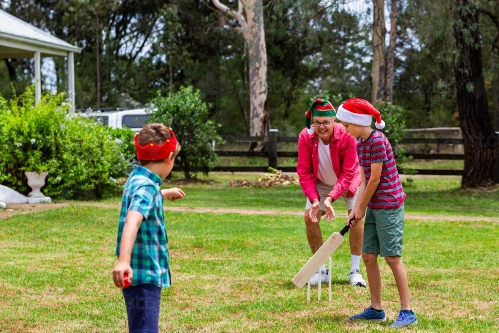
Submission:
[[[266,136],[270,128],[267,110],[267,48],[263,27],[262,0],[239,0],[238,10],[231,9],[220,0],[212,0],[215,7],[235,17],[238,28],[248,44],[250,74],[250,136]],[[243,14],[246,14],[246,17]],[[250,150],[262,151],[263,142],[251,142]]]

